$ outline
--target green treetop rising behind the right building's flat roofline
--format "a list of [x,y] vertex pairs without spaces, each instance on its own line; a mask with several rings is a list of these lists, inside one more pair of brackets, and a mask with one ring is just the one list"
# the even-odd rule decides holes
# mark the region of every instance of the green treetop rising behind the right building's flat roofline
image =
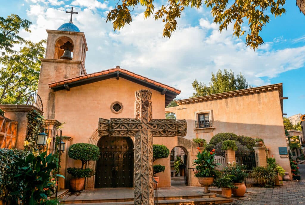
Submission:
[[227,69],[224,69],[224,73],[222,73],[221,70],[218,70],[216,75],[212,72],[209,86],[198,82],[197,80],[194,80],[192,86],[195,92],[191,97],[224,93],[251,87],[248,85],[246,78],[242,75],[242,73],[237,74],[235,77],[232,70],[228,71]]

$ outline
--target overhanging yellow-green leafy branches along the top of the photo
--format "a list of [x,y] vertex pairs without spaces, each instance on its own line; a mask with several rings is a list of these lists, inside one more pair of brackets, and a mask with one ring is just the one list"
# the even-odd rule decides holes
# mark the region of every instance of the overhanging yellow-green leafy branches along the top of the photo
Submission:
[[[305,7],[303,1],[296,0],[300,9]],[[109,11],[106,21],[111,21],[114,30],[119,30],[132,21],[131,12],[140,4],[145,7],[144,18],[153,15],[155,20],[162,20],[164,22],[163,37],[170,38],[171,34],[176,31],[177,19],[181,17],[182,11],[186,7],[199,9],[204,4],[207,8],[212,9],[214,23],[219,24],[220,32],[228,29],[229,24],[232,23],[234,25],[233,35],[240,37],[246,34],[246,45],[255,50],[264,43],[260,32],[269,22],[269,14],[277,17],[285,13],[283,8],[285,0],[238,0],[233,3],[228,0],[168,0],[157,11],[154,11],[153,3],[153,0],[122,0],[122,3],[118,2],[114,9]],[[244,21],[247,21],[248,25],[248,29],[245,30],[246,22]]]

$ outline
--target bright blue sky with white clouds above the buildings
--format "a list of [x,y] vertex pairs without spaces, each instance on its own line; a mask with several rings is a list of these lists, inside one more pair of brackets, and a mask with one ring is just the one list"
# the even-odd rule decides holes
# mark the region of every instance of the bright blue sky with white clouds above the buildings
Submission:
[[[286,1],[286,14],[274,18],[264,27],[265,44],[255,52],[245,46],[245,39],[232,37],[232,27],[218,32],[210,10],[186,9],[178,20],[171,39],[163,39],[163,23],[143,18],[143,8],[133,12],[133,21],[113,32],[106,23],[107,11],[114,1],[102,0],[0,0],[0,16],[11,13],[33,22],[30,34],[20,34],[32,41],[47,38],[45,29],[57,29],[68,22],[64,11],[74,6],[73,22],[85,33],[88,49],[87,73],[116,67],[174,86],[192,95],[192,82],[210,81],[211,72],[231,69],[242,72],[253,87],[283,83],[284,113],[305,113],[305,16],[295,1]],[[156,8],[162,5],[156,1]],[[246,26],[246,24],[245,24]]]

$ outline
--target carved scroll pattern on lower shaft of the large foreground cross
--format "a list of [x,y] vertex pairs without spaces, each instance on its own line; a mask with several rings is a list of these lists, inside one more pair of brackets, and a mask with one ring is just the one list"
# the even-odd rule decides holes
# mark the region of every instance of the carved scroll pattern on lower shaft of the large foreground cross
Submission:
[[152,135],[145,126],[135,137],[135,204],[153,204],[152,176]]

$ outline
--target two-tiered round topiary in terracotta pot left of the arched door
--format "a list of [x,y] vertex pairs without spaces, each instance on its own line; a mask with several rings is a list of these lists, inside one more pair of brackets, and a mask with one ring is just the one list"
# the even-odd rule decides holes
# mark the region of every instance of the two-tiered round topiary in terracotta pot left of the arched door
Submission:
[[67,172],[74,177],[70,179],[71,189],[75,191],[82,190],[85,178],[95,174],[90,168],[84,169],[84,165],[99,158],[99,147],[88,143],[76,143],[69,147],[68,155],[71,159],[81,160],[81,168],[69,167]]

